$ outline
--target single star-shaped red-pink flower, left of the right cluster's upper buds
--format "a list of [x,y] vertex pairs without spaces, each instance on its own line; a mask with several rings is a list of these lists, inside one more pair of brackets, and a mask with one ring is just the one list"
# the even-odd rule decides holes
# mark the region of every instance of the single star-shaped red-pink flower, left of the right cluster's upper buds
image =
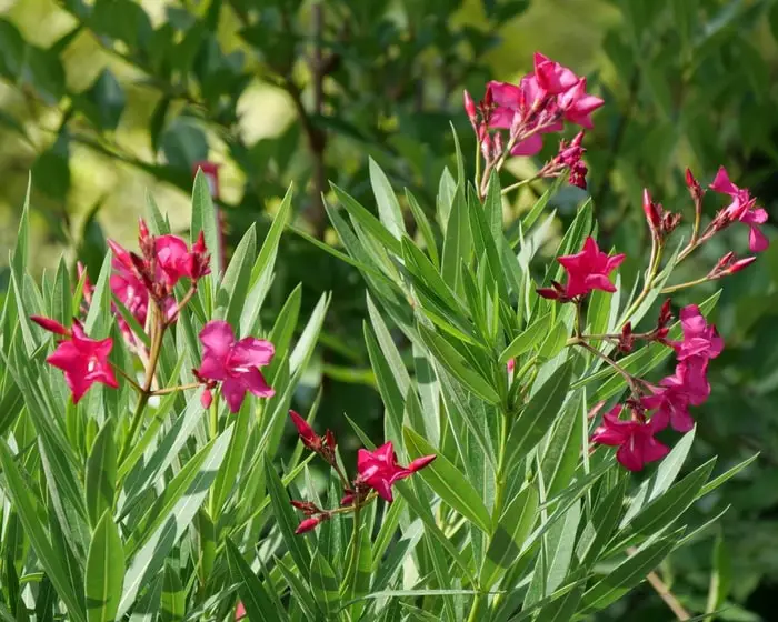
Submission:
[[621,264],[624,259],[624,254],[608,257],[600,251],[595,239],[589,237],[581,252],[557,258],[557,261],[567,270],[567,284],[563,288],[555,284],[553,290],[539,289],[538,293],[543,298],[565,301],[586,295],[594,290],[615,292],[616,288],[610,282],[609,274]]

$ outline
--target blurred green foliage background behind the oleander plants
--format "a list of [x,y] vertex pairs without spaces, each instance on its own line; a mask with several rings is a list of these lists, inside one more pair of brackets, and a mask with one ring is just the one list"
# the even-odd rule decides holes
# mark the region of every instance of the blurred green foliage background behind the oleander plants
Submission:
[[[558,231],[590,194],[600,238],[630,258],[631,285],[647,251],[644,187],[689,215],[686,165],[709,183],[719,164],[759,197],[778,200],[778,8],[774,0],[2,0],[0,1],[0,297],[32,172],[34,268],[61,253],[96,274],[111,237],[132,245],[144,193],[174,230],[189,221],[198,160],[220,164],[228,247],[268,215],[293,183],[295,228],[338,245],[319,197],[327,180],[372,205],[368,157],[398,190],[435,205],[453,151],[475,141],[461,110],[490,79],[517,80],[542,51],[589,78],[606,100],[585,146],[589,192],[553,199]],[[556,152],[511,162],[503,185]],[[472,164],[472,162],[470,162]],[[543,190],[505,204],[506,225]],[[719,207],[706,200],[708,214]],[[774,238],[771,225],[768,235]],[[727,250],[747,252],[735,227],[699,252],[684,277]],[[228,249],[229,253],[229,249]],[[382,408],[362,341],[365,290],[346,263],[291,232],[282,243],[271,312],[298,283],[303,309],[332,291],[326,335],[298,410],[317,392],[319,425],[347,450],[342,413],[378,440]],[[728,280],[716,320],[725,353],[711,365],[712,399],[698,409],[696,460],[718,468],[755,451],[757,463],[698,509],[731,505],[717,530],[662,568],[672,590],[705,610],[711,581],[721,620],[775,620],[778,590],[778,251]],[[717,288],[677,297],[699,301]],[[702,291],[700,291],[702,290]],[[275,310],[275,311],[273,311]],[[305,319],[305,318],[303,318]],[[288,441],[293,442],[289,438]],[[719,536],[724,539],[720,540]],[[716,536],[716,538],[714,538]],[[715,590],[716,591],[716,590]],[[718,603],[712,603],[718,604]],[[602,614],[667,620],[649,589]]]

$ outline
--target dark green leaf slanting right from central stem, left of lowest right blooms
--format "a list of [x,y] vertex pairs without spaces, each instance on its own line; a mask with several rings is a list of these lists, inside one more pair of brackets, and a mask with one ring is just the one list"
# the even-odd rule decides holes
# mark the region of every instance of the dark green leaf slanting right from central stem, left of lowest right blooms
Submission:
[[561,411],[570,387],[572,364],[567,361],[530,398],[508,437],[506,472],[510,473],[519,460],[546,435]]

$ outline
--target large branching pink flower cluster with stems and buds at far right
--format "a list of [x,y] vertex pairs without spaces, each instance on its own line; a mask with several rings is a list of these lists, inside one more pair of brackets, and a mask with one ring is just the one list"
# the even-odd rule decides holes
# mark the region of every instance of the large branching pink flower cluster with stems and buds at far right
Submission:
[[[710,189],[727,194],[731,201],[716,214],[701,232],[702,199],[706,191],[688,170],[686,183],[695,204],[695,224],[691,238],[675,258],[674,267],[710,240],[718,231],[734,222],[744,222],[749,225],[749,248],[752,252],[759,252],[767,248],[767,238],[758,227],[767,219],[765,210],[756,207],[756,199],[750,195],[748,190],[738,188],[730,181],[724,168],[719,169]],[[685,433],[694,428],[695,422],[689,413],[689,408],[698,407],[708,399],[710,394],[710,384],[707,378],[708,363],[718,357],[724,348],[724,342],[716,332],[716,327],[709,325],[699,308],[694,304],[685,307],[680,311],[684,339],[670,341],[668,334],[672,317],[669,299],[662,305],[652,330],[647,332],[632,330],[630,315],[646,300],[658,281],[667,239],[681,221],[680,214],[666,211],[661,204],[656,203],[648,190],[644,191],[642,209],[651,238],[651,258],[644,289],[625,312],[626,318],[621,323],[620,332],[614,334],[585,334],[582,332],[582,311],[588,294],[595,290],[616,291],[610,281],[610,274],[625,259],[624,254],[609,257],[599,249],[592,238],[587,238],[580,252],[558,258],[567,277],[563,284],[551,281],[551,287],[537,290],[542,298],[560,303],[573,303],[577,311],[576,333],[569,344],[581,347],[589,353],[605,360],[625,378],[631,393],[630,397],[624,404],[616,404],[604,415],[602,423],[595,430],[591,440],[598,444],[617,447],[617,460],[631,471],[638,471],[646,463],[659,460],[667,454],[669,451],[667,445],[655,438],[658,432],[671,428],[677,432]],[[728,252],[705,277],[687,283],[666,287],[661,291],[669,293],[734,274],[750,265],[755,259],[749,257],[738,260],[734,252]],[[591,342],[597,340],[610,343],[617,352],[621,353],[630,352],[637,340],[661,343],[672,348],[676,352],[675,371],[657,384],[652,384],[645,379],[634,377],[602,349],[592,347]],[[509,361],[509,372],[512,372],[513,365],[515,363]],[[601,407],[602,404],[595,407],[591,417]],[[630,413],[628,419],[620,419],[624,411]]]

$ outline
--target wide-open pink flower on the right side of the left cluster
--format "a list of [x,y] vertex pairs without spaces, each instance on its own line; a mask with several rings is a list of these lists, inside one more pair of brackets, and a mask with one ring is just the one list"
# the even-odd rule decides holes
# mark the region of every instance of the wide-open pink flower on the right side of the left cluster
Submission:
[[197,373],[221,382],[221,392],[231,412],[238,412],[247,391],[260,398],[275,394],[258,368],[273,357],[272,343],[253,337],[236,341],[232,327],[223,320],[211,320],[200,331],[202,363]]

